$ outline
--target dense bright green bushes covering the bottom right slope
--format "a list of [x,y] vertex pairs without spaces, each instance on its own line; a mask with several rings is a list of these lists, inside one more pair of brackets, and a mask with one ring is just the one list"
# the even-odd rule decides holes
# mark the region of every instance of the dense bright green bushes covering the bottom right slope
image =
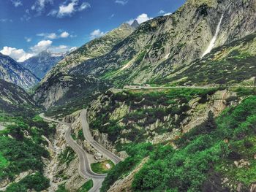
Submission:
[[[169,145],[129,144],[122,149],[129,157],[109,172],[101,191],[107,191],[148,155],[149,161],[135,174],[133,191],[203,191],[215,173],[229,178],[233,186],[242,183],[242,190],[249,191],[256,180],[255,114],[256,96],[251,96],[216,120],[210,114],[205,123],[176,141],[178,150]],[[239,169],[234,161],[241,159],[250,165]]]

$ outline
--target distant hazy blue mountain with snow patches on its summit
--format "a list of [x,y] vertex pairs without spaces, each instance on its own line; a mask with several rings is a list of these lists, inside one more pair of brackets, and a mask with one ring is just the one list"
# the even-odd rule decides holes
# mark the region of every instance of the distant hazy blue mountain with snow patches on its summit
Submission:
[[45,50],[20,64],[42,79],[65,55],[66,53],[53,54]]

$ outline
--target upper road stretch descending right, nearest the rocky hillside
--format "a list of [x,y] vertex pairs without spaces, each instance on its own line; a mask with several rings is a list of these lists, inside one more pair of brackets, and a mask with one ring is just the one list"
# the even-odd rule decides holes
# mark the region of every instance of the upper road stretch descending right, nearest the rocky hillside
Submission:
[[82,120],[83,136],[85,139],[89,141],[91,146],[99,151],[99,153],[102,153],[103,156],[113,161],[114,164],[118,164],[121,161],[121,158],[119,158],[118,155],[115,155],[114,153],[111,153],[109,150],[105,149],[105,147],[102,147],[102,145],[99,145],[99,143],[96,142],[91,136],[89,123],[87,122],[87,110],[82,110],[80,117]]

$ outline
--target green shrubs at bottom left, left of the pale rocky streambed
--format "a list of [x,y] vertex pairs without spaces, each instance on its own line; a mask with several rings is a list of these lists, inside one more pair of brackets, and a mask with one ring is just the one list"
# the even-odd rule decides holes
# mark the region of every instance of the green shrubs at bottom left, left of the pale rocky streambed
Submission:
[[7,128],[0,131],[0,180],[9,178],[12,181],[21,172],[35,172],[19,183],[10,185],[7,191],[42,191],[48,188],[49,181],[42,175],[42,157],[49,157],[44,147],[48,142],[42,135],[49,137],[55,132],[55,126],[45,123],[38,117],[14,118],[5,114],[1,115],[0,119],[8,120]]

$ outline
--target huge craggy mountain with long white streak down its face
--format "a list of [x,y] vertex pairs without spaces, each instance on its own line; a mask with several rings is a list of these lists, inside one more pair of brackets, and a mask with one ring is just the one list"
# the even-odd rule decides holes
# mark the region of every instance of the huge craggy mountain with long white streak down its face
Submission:
[[85,61],[69,73],[123,85],[154,82],[202,58],[206,50],[253,34],[255,9],[255,0],[189,0],[172,15],[140,24],[110,53]]

